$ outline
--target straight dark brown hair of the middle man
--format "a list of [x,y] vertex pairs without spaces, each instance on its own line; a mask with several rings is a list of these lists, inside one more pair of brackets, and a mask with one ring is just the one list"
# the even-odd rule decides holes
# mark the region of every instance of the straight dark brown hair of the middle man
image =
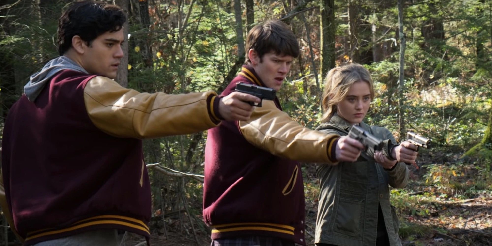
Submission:
[[263,62],[263,56],[269,52],[275,52],[282,56],[299,56],[299,42],[296,35],[282,21],[270,20],[253,27],[246,37],[246,64],[251,60],[247,55],[250,49],[254,49]]

